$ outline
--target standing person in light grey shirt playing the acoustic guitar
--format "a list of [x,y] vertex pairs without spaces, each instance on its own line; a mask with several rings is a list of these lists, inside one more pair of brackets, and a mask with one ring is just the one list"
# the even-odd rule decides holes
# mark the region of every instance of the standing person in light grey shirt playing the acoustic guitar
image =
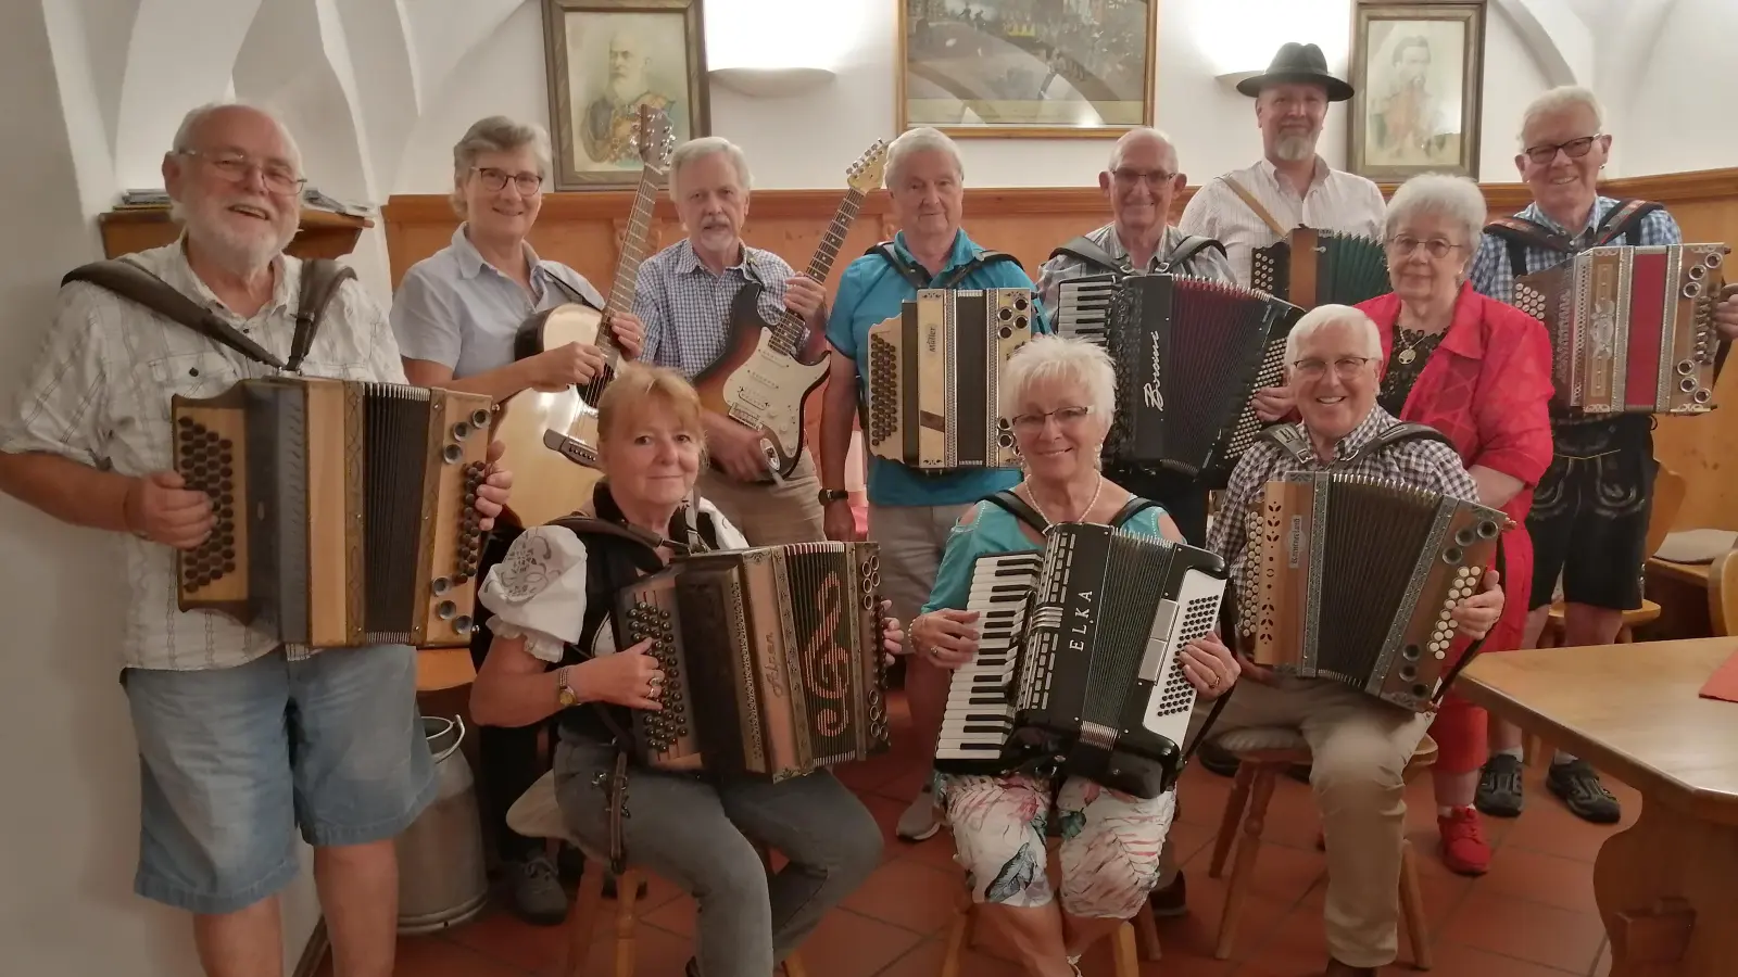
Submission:
[[[492,115],[478,120],[452,148],[452,209],[459,228],[452,243],[405,271],[393,297],[393,334],[405,360],[405,377],[417,386],[487,393],[502,402],[525,389],[568,389],[596,376],[603,353],[591,344],[568,344],[516,358],[514,342],[527,318],[556,306],[582,302],[603,308],[603,296],[586,278],[537,257],[525,240],[542,209],[549,177],[549,136]],[[612,316],[617,341],[629,356],[640,355],[643,329],[631,315]],[[488,574],[518,537],[502,525],[483,549],[478,579]],[[471,633],[471,664],[483,668],[488,652],[487,608],[478,608]],[[436,687],[469,676],[431,678]],[[560,925],[567,894],[541,838],[521,838],[507,827],[506,812],[547,768],[539,765],[535,728],[483,727],[481,801],[507,874],[513,909],[527,921]]]

